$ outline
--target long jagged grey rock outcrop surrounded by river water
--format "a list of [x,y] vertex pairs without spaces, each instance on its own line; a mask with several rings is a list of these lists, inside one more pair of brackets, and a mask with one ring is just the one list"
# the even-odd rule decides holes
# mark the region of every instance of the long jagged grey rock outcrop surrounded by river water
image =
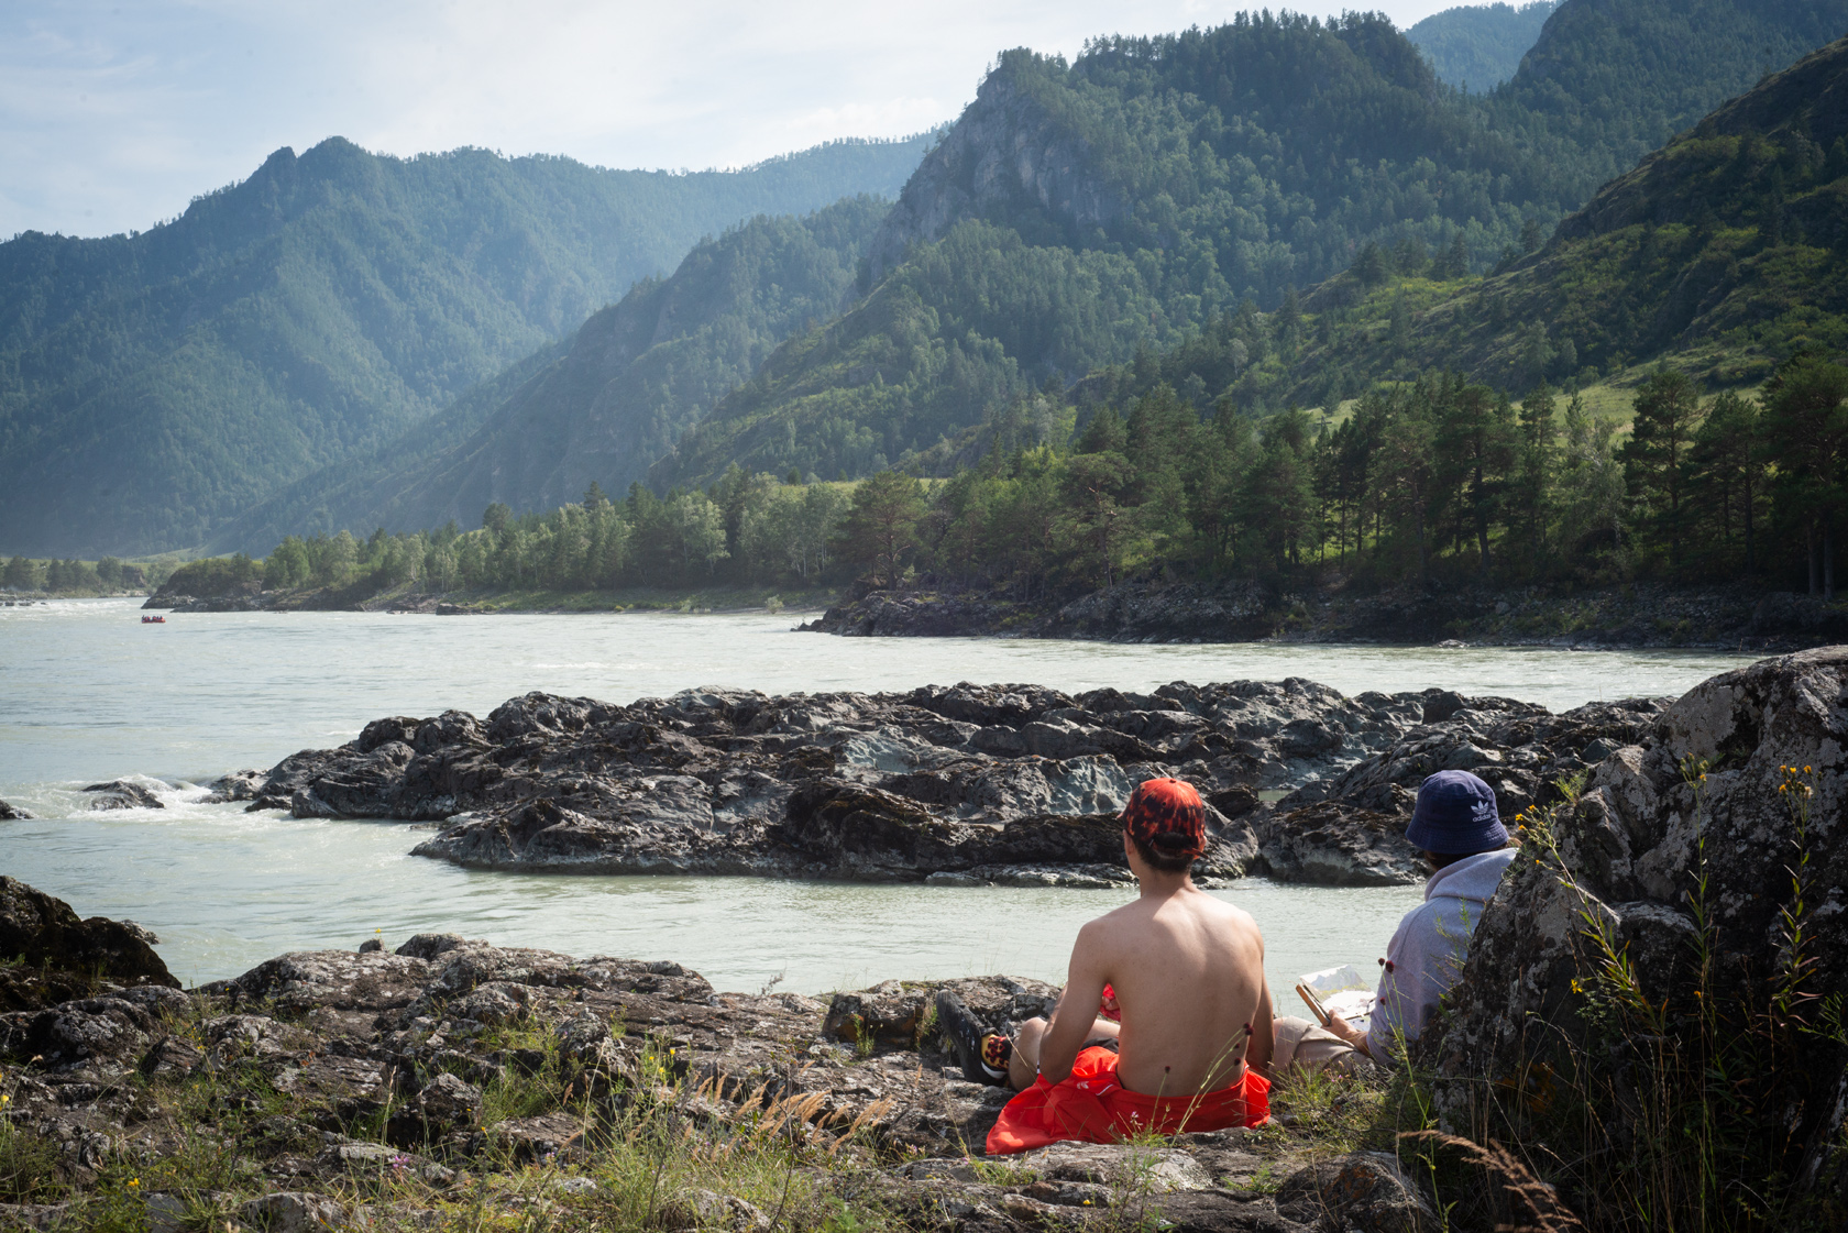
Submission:
[[[438,823],[414,852],[469,869],[1107,887],[1129,880],[1114,812],[1144,778],[1179,775],[1209,802],[1199,878],[1392,885],[1423,876],[1401,832],[1425,775],[1471,769],[1512,817],[1641,739],[1665,704],[1554,715],[1301,678],[1077,697],[689,690],[628,706],[529,693],[486,719],[375,719],[214,789],[296,817]],[[94,786],[96,808],[126,787]]]

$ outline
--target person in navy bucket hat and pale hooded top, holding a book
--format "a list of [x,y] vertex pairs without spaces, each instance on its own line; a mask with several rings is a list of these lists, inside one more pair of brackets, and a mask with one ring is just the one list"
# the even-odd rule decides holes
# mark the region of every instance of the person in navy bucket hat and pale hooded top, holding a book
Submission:
[[1386,946],[1368,1030],[1340,1015],[1329,1020],[1329,1032],[1388,1065],[1395,1041],[1416,1041],[1464,974],[1469,937],[1515,856],[1495,789],[1469,771],[1438,771],[1419,784],[1404,837],[1430,865],[1425,902],[1404,915]]

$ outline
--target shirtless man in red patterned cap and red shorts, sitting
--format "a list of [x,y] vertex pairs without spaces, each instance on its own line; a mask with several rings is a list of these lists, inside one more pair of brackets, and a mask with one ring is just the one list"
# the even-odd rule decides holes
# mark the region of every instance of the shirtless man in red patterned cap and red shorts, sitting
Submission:
[[[1246,911],[1205,895],[1188,874],[1205,850],[1205,806],[1188,784],[1159,778],[1131,793],[1122,817],[1140,895],[1077,932],[1050,1020],[1029,1019],[1011,1043],[976,1039],[961,1004],[939,996],[965,1074],[1000,1081],[1005,1063],[1007,1085],[1022,1089],[989,1152],[1268,1117],[1264,937]],[[1118,1007],[1120,1026],[1098,1015]]]

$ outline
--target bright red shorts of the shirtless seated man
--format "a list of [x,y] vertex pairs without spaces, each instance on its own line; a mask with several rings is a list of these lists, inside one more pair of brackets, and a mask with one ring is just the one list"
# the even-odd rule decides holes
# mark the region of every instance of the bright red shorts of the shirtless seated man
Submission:
[[1268,1120],[1270,1080],[1249,1067],[1236,1083],[1216,1093],[1146,1096],[1116,1081],[1114,1052],[1092,1046],[1077,1054],[1072,1076],[1063,1083],[1037,1080],[1007,1102],[989,1131],[989,1155],[1031,1152],[1063,1139],[1118,1142],[1142,1131],[1179,1135]]

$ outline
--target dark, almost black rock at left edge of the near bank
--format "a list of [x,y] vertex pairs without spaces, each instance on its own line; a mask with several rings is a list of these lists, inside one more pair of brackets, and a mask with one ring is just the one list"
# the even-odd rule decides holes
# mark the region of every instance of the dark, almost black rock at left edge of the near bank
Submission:
[[33,1009],[98,987],[170,985],[179,982],[133,922],[79,921],[61,898],[17,878],[0,876],[0,1002]]

